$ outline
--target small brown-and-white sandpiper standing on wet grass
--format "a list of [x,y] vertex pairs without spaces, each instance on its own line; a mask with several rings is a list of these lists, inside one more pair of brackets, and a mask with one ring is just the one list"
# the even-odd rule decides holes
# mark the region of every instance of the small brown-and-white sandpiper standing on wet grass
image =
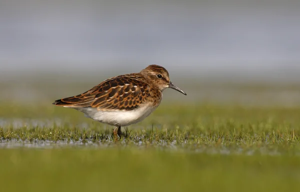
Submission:
[[114,136],[121,137],[121,127],[143,120],[158,107],[167,87],[186,95],[170,82],[164,67],[149,65],[139,73],[106,79],[82,94],[52,104],[76,109],[93,120],[115,126]]

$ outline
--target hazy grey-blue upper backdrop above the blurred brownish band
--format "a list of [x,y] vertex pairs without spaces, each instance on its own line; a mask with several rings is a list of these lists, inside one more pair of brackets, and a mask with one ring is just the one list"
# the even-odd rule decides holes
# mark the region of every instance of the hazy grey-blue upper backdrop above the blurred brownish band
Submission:
[[190,74],[294,77],[300,71],[299,5],[298,0],[1,0],[0,67],[5,74],[100,73],[160,64]]

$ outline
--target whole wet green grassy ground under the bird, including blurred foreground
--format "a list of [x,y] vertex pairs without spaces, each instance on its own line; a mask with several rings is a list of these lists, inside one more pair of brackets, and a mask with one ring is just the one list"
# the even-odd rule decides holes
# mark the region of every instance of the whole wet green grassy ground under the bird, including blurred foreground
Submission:
[[3,104],[0,189],[299,191],[299,115],[300,107],[162,103],[116,141],[113,127],[72,109]]

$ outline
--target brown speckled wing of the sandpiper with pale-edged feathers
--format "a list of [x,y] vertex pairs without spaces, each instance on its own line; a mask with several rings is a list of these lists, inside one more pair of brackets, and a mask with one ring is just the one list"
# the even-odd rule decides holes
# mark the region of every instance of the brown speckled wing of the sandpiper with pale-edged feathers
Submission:
[[148,96],[150,96],[149,85],[142,77],[128,74],[107,79],[80,95],[56,100],[53,104],[66,107],[94,107],[101,111],[133,110]]

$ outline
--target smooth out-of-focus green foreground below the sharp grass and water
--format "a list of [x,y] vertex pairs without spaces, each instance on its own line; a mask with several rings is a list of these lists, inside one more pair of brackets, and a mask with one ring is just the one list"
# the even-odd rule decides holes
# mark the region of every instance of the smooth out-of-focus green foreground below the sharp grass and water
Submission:
[[296,192],[300,158],[138,149],[1,149],[1,192]]

